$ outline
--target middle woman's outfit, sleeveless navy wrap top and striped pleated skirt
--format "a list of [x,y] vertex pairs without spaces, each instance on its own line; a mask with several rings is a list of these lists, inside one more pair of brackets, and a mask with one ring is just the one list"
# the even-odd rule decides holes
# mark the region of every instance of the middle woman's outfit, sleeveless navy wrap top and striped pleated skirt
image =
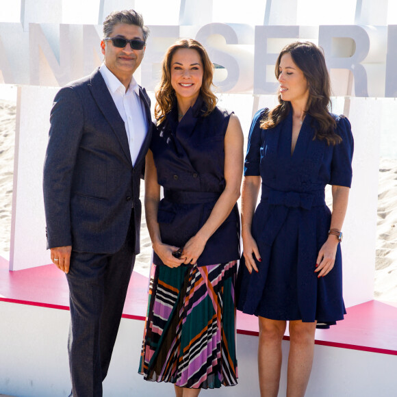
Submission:
[[[182,247],[225,190],[229,112],[203,117],[199,97],[178,123],[177,107],[153,131],[151,151],[164,188],[157,221],[162,242]],[[237,383],[235,278],[240,258],[237,206],[195,265],[168,268],[153,253],[148,313],[138,372],[147,381],[217,388]]]

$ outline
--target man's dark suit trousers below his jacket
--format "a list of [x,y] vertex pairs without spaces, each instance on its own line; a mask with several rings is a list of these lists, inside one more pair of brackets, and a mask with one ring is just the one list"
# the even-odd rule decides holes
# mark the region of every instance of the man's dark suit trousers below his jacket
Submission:
[[68,339],[73,397],[101,397],[135,262],[133,214],[127,238],[112,255],[72,252]]

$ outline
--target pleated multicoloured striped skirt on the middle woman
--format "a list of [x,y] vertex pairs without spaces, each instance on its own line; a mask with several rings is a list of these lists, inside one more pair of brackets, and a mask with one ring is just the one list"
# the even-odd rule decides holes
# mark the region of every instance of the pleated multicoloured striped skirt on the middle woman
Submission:
[[213,389],[237,384],[237,262],[152,267],[139,373],[147,381]]

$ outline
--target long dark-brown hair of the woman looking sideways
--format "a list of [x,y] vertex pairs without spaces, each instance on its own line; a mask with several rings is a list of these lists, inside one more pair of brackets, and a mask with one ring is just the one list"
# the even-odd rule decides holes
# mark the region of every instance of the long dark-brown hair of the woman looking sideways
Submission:
[[[314,139],[326,140],[327,144],[333,145],[342,142],[342,138],[335,132],[335,119],[329,114],[331,109],[331,82],[322,50],[312,42],[288,44],[281,50],[277,58],[274,70],[277,79],[280,75],[281,57],[286,53],[291,55],[294,64],[303,72],[309,86],[306,113],[317,121],[312,126],[315,129]],[[276,127],[291,111],[290,102],[283,101],[280,92],[278,97],[279,105],[270,110],[261,120],[262,129]]]

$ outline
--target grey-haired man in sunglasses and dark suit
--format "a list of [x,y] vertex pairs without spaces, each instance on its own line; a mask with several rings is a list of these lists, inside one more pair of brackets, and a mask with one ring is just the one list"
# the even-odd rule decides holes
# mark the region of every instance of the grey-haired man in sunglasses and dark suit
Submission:
[[51,110],[44,207],[51,260],[69,285],[73,397],[102,396],[140,249],[140,177],[153,124],[133,73],[148,34],[138,12],[112,12],[103,64],[62,88]]

